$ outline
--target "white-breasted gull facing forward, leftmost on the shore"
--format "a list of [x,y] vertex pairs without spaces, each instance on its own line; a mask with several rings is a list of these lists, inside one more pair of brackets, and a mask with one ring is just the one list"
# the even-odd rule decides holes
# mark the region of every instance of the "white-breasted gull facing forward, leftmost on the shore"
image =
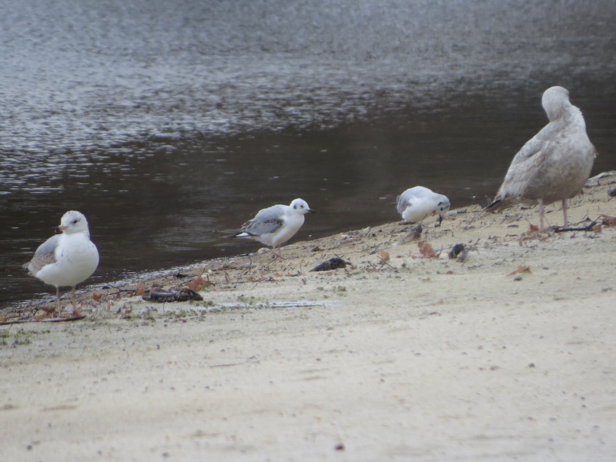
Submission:
[[23,269],[44,283],[55,286],[60,315],[60,287],[71,287],[73,309],[76,309],[75,286],[97,269],[99,251],[90,240],[90,230],[83,213],[70,210],[63,214],[57,230],[61,233],[41,244]]

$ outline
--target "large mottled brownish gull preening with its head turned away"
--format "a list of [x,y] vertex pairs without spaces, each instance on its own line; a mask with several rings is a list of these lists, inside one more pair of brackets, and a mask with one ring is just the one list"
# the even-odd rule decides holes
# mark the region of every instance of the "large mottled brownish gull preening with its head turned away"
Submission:
[[496,212],[517,203],[537,205],[543,231],[543,207],[557,200],[562,201],[567,226],[567,200],[584,187],[597,152],[586,134],[582,111],[570,103],[567,89],[549,87],[541,104],[549,123],[514,156],[494,201],[485,210]]

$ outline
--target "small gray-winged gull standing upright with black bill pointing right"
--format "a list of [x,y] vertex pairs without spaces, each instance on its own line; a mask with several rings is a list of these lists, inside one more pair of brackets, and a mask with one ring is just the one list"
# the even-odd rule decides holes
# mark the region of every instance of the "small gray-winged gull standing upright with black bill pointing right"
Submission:
[[[294,199],[290,205],[273,205],[259,210],[253,219],[241,226],[241,231],[229,237],[253,238],[272,247],[274,256],[282,258],[280,244],[288,241],[304,224],[304,215],[316,213],[303,199]],[[278,253],[275,249],[278,249]]]

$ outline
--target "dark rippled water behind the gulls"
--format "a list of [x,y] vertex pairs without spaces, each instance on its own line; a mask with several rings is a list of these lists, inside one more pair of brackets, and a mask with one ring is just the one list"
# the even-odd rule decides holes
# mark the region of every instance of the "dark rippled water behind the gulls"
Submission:
[[0,7],[0,307],[53,291],[15,267],[68,209],[103,283],[254,251],[222,236],[296,197],[304,239],[493,195],[554,84],[614,168],[612,0]]

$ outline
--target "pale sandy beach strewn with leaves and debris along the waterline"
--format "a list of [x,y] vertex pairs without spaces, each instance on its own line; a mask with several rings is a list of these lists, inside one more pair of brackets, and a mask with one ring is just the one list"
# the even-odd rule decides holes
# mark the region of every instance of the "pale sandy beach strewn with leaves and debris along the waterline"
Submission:
[[570,201],[586,231],[469,206],[143,281],[203,301],[2,325],[0,461],[614,460],[614,182]]

